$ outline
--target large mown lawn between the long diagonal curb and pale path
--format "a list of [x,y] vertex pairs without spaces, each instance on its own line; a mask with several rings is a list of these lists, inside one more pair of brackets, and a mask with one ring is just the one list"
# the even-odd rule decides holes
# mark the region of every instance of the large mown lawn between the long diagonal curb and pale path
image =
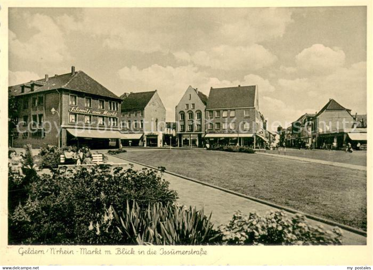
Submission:
[[118,156],[366,230],[366,171],[198,149]]

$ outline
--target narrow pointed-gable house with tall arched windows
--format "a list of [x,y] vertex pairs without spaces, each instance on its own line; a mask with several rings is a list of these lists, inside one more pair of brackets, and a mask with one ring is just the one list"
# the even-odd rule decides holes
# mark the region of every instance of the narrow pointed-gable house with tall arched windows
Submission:
[[207,96],[189,85],[175,108],[179,147],[203,147]]

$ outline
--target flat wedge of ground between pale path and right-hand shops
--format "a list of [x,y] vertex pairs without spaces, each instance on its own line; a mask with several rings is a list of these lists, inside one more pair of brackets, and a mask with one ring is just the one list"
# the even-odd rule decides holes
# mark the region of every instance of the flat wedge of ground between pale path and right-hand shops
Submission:
[[[278,154],[278,150],[267,150],[267,153]],[[283,149],[280,150],[280,155],[283,155]],[[299,156],[301,158],[321,159],[325,161],[341,162],[352,165],[367,166],[367,151],[354,151],[346,153],[345,151],[329,151],[329,150],[305,150],[286,148],[287,156]]]

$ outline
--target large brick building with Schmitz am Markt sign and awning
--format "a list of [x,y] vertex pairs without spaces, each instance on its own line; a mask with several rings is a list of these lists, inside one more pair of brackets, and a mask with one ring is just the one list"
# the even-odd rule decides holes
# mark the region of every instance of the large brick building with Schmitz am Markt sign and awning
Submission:
[[19,103],[11,146],[119,145],[121,99],[82,71],[10,86]]

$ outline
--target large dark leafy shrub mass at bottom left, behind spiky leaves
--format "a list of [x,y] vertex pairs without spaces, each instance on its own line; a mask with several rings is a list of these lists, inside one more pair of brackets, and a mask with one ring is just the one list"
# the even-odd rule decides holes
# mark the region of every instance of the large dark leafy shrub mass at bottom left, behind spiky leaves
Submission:
[[100,237],[92,238],[90,222],[101,224],[102,213],[110,206],[122,209],[127,200],[136,200],[144,208],[152,203],[171,204],[177,193],[168,187],[162,172],[132,167],[112,172],[100,165],[38,176],[25,201],[10,213],[9,242],[115,244],[122,238],[116,227],[101,228]]

